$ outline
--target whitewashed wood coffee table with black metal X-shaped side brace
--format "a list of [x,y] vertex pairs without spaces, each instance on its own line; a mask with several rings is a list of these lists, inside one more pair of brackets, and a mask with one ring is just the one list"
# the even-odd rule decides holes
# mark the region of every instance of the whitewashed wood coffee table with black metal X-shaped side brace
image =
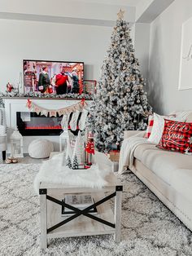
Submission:
[[[47,239],[69,236],[93,236],[114,234],[116,242],[120,242],[121,200],[123,186],[111,173],[107,176],[107,185],[101,189],[82,188],[55,183],[41,183],[40,218],[41,218],[41,248],[47,248]],[[94,204],[85,210],[79,210],[62,201],[67,194],[91,194]],[[114,210],[109,201],[115,197]],[[61,207],[74,210],[70,217],[61,216]],[[88,214],[94,206],[98,214]]]

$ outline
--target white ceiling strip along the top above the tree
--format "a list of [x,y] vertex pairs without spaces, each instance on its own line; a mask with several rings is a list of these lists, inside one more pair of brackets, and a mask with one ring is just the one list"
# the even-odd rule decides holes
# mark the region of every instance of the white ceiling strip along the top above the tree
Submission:
[[[124,20],[151,23],[175,0],[0,0],[0,19],[28,20],[60,24],[113,27],[117,12]],[[192,1],[192,0],[191,0]]]

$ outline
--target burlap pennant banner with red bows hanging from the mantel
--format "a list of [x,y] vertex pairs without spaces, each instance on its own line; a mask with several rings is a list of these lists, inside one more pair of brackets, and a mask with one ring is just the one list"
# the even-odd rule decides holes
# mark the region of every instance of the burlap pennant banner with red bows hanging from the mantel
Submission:
[[81,99],[80,102],[76,104],[72,104],[71,106],[65,107],[65,108],[59,108],[59,109],[47,109],[39,107],[37,104],[33,103],[31,99],[28,99],[26,107],[32,112],[35,112],[37,114],[40,114],[41,116],[48,116],[49,117],[57,117],[57,113],[59,114],[59,117],[68,113],[75,112],[76,110],[82,110],[87,106],[87,103],[85,102],[85,99]]

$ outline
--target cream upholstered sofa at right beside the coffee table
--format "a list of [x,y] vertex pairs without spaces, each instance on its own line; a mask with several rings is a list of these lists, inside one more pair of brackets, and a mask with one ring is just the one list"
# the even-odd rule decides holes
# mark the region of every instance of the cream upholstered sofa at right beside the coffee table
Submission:
[[[192,113],[186,121],[192,122]],[[125,131],[124,139],[138,132]],[[140,144],[131,170],[192,231],[192,156]]]

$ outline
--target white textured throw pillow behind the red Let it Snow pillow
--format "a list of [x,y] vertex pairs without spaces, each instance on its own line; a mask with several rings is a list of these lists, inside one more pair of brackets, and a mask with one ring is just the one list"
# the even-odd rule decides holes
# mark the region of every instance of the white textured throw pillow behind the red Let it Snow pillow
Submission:
[[160,116],[157,113],[154,113],[154,124],[151,130],[151,135],[148,139],[148,141],[158,144],[159,140],[161,139],[161,136],[164,131],[164,118],[168,120],[173,120],[173,121],[185,121],[185,118],[180,117],[169,117],[169,116]]

